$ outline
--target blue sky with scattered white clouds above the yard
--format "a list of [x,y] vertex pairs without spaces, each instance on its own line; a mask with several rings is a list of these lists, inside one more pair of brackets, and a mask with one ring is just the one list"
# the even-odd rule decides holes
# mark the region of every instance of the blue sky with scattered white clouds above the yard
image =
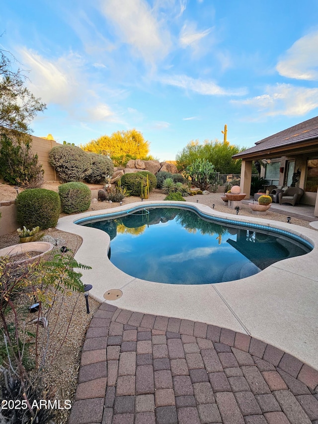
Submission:
[[11,0],[0,33],[58,142],[136,128],[174,160],[225,124],[251,147],[318,115],[317,0]]

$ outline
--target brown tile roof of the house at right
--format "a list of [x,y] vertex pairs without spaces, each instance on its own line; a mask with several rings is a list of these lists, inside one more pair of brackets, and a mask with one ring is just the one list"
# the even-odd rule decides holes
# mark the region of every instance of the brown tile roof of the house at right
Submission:
[[234,155],[233,158],[277,149],[279,147],[283,148],[284,146],[295,145],[296,147],[298,143],[313,139],[318,139],[318,116],[259,140],[255,143],[255,146]]

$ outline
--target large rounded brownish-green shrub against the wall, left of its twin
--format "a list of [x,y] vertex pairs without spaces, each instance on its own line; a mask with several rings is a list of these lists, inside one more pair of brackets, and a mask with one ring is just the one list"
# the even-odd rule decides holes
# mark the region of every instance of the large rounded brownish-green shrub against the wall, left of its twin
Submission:
[[77,146],[56,146],[50,150],[49,162],[61,181],[80,181],[90,172],[90,160],[86,152]]

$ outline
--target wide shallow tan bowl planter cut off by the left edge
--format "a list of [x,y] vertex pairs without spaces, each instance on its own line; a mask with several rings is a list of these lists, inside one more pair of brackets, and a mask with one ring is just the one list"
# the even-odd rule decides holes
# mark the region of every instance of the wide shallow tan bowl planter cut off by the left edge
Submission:
[[[48,242],[26,242],[23,244],[13,245],[0,249],[0,256],[13,257],[15,264],[21,265],[21,263],[25,264],[37,260],[40,256],[44,256],[45,254],[49,253],[53,248],[54,246],[52,243]],[[38,252],[39,254],[19,260],[19,255],[24,255],[28,252]]]

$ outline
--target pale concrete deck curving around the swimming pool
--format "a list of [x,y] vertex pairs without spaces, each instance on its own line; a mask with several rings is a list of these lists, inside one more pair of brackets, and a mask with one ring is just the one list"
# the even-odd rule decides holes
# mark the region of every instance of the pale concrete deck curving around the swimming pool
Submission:
[[[170,205],[170,202],[139,202],[114,208],[111,213],[159,203]],[[187,202],[179,204],[186,206]],[[318,369],[318,232],[279,221],[217,212],[202,204],[189,205],[211,217],[292,232],[311,242],[314,249],[237,281],[169,285],[125,274],[107,257],[110,239],[106,233],[74,224],[80,218],[109,214],[109,210],[60,218],[57,229],[83,239],[75,258],[92,267],[92,270],[81,270],[82,282],[93,285],[90,295],[96,300],[104,302],[106,291],[120,289],[123,296],[114,302],[108,301],[120,309],[227,328],[274,345]]]

